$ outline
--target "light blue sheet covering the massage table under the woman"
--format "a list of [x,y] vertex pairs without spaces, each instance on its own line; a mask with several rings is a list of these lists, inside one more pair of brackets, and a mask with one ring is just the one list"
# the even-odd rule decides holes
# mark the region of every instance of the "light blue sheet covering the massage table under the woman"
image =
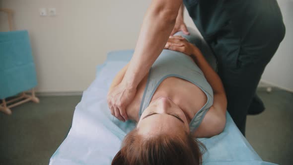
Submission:
[[[83,92],[74,111],[72,128],[49,165],[111,164],[124,136],[135,124],[113,117],[106,95],[114,76],[132,54],[133,50],[110,52],[106,62],[97,67],[96,79]],[[263,162],[228,113],[226,117],[226,126],[220,135],[199,139],[208,150],[203,156],[203,165],[275,165]]]

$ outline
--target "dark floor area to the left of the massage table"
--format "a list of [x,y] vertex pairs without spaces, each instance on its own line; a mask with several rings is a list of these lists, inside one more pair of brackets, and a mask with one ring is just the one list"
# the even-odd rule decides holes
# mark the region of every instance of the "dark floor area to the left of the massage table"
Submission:
[[65,139],[81,96],[39,98],[0,113],[0,165],[48,165]]

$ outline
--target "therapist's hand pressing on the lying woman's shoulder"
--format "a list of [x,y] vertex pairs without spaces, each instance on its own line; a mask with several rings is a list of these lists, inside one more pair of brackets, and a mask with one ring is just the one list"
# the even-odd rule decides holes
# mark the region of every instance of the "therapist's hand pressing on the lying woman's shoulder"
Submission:
[[123,82],[115,86],[107,95],[111,114],[123,122],[127,121],[125,108],[133,100],[135,94],[136,88],[130,88]]

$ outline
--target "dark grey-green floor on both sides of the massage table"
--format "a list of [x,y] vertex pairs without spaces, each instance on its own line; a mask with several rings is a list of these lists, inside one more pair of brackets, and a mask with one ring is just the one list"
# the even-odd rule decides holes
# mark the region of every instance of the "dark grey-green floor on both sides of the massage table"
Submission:
[[[258,90],[267,109],[248,116],[246,136],[264,161],[293,165],[293,93]],[[43,96],[0,113],[0,165],[48,165],[66,137],[80,96]]]

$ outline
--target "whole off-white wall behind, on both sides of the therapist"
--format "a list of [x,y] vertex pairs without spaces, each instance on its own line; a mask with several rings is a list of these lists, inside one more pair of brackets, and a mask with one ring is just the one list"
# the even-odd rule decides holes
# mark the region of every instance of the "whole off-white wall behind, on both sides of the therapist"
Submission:
[[[86,89],[95,77],[96,65],[104,62],[107,52],[135,47],[150,1],[0,0],[0,7],[15,11],[17,30],[29,31],[39,82],[37,91],[71,92]],[[285,8],[286,38],[263,80],[293,90],[292,76],[288,76],[293,71],[293,51],[289,46],[293,11],[287,6],[289,0],[284,1],[279,3],[284,5],[282,10]],[[40,7],[56,7],[57,16],[39,16]],[[186,10],[185,22],[195,27]],[[1,13],[0,31],[5,30],[8,25]]]

